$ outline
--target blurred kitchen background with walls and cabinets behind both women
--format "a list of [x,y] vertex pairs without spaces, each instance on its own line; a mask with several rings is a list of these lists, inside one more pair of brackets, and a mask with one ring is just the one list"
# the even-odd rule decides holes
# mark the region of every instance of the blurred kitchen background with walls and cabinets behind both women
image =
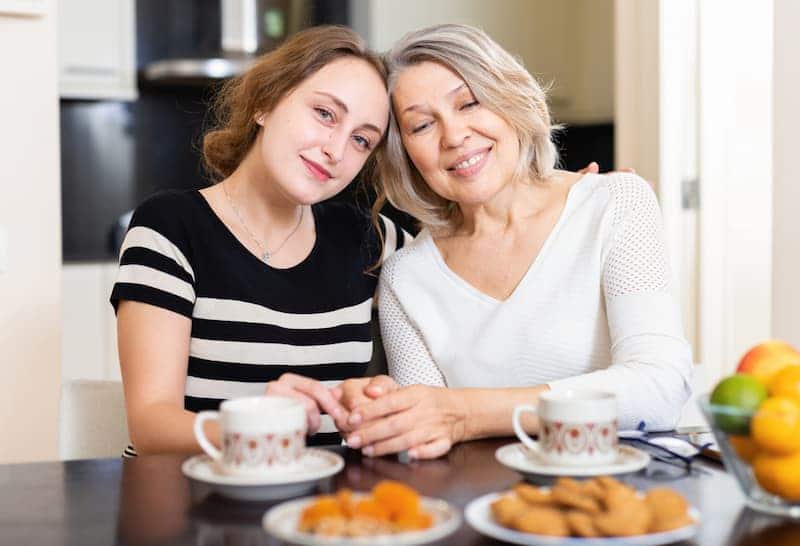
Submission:
[[654,183],[698,390],[765,337],[800,345],[792,0],[0,0],[0,462],[57,458],[62,383],[119,378],[125,215],[208,183],[220,82],[306,26],[385,50],[440,22],[482,27],[552,84],[565,168]]

